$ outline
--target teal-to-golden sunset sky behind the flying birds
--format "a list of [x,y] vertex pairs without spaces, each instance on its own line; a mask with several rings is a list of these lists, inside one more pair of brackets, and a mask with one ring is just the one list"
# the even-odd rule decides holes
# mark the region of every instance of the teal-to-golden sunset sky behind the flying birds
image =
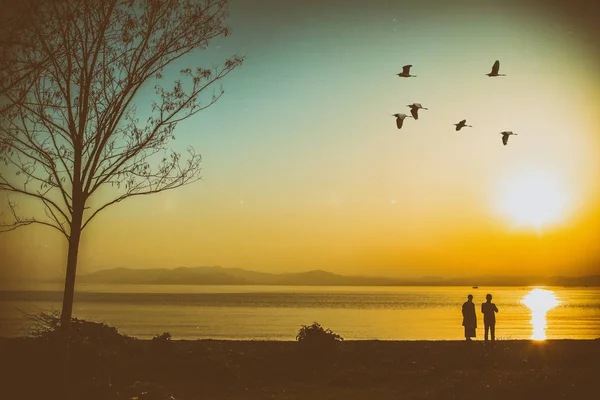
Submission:
[[[600,273],[600,12],[580,3],[231,1],[231,36],[174,66],[246,55],[175,132],[202,181],[100,214],[78,273]],[[63,276],[66,248],[4,233],[0,276]]]

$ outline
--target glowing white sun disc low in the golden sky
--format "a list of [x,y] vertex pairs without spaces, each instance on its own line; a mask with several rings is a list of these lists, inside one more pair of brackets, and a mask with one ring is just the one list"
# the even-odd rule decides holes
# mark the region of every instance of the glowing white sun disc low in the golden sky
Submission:
[[498,208],[517,227],[541,230],[565,217],[567,194],[550,172],[514,171],[500,186]]

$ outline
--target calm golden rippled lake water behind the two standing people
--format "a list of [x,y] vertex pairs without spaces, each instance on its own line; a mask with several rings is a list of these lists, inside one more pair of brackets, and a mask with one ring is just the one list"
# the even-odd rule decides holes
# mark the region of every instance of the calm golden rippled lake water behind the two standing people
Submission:
[[[60,309],[60,286],[0,290],[0,336],[26,333],[21,311]],[[543,289],[543,290],[540,290]],[[492,293],[499,339],[600,337],[600,288],[79,285],[74,316],[138,338],[294,340],[319,322],[347,340],[460,340],[461,305]],[[522,303],[526,303],[532,310]],[[21,310],[21,311],[20,311]],[[477,337],[483,337],[478,311]]]

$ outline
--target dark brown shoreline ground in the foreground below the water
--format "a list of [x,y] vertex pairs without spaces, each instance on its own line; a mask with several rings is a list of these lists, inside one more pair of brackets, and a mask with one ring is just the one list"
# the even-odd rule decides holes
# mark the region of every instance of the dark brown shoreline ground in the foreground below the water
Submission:
[[[2,399],[55,399],[58,352],[0,339]],[[135,341],[71,358],[77,399],[588,399],[600,393],[600,340],[342,342]],[[137,383],[136,383],[137,382]],[[145,392],[145,393],[144,393]]]

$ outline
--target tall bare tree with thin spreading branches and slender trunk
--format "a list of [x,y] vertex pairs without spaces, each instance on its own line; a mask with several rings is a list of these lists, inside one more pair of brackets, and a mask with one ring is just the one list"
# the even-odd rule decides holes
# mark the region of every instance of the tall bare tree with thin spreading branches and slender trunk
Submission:
[[[0,192],[10,212],[1,227],[41,224],[68,241],[68,329],[83,230],[113,204],[200,178],[200,155],[190,148],[182,157],[168,144],[178,122],[220,98],[212,87],[243,57],[181,69],[172,86],[161,85],[174,61],[229,34],[227,0],[19,4],[15,15],[32,22],[2,38]],[[22,215],[18,197],[43,213]]]

